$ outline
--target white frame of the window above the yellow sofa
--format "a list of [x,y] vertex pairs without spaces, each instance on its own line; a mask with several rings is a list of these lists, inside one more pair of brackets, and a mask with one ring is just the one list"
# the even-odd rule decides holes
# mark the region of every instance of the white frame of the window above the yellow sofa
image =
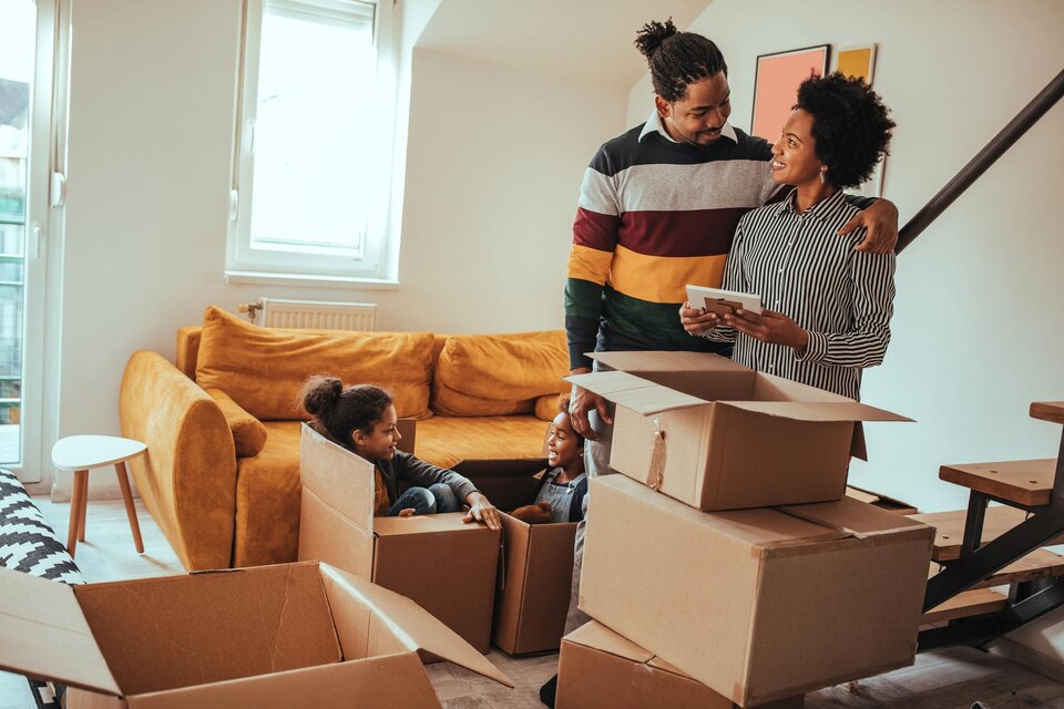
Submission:
[[[377,175],[368,197],[368,218],[364,249],[359,258],[346,249],[298,245],[268,248],[252,244],[252,199],[254,199],[254,133],[258,102],[258,60],[262,24],[267,3],[291,6],[340,6],[342,0],[247,0],[243,16],[239,71],[237,76],[234,157],[229,192],[229,220],[226,229],[225,277],[229,282],[321,285],[357,282],[369,287],[395,287],[398,259],[393,251],[398,238],[391,228],[391,184],[393,176],[396,96],[399,42],[396,37],[393,0],[364,0],[376,6],[374,44],[377,50],[371,131],[376,136],[369,169]],[[329,10],[326,10],[327,14]],[[379,140],[376,140],[379,138]]]

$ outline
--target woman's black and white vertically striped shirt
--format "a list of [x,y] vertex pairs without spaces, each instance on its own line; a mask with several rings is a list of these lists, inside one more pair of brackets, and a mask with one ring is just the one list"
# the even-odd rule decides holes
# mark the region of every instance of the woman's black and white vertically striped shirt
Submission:
[[739,220],[724,273],[724,288],[761,296],[809,333],[798,354],[718,327],[710,340],[735,341],[733,359],[757,371],[860,398],[861,370],[883,361],[894,300],[894,255],[856,251],[864,229],[836,232],[855,214],[839,191],[802,214],[797,192]]

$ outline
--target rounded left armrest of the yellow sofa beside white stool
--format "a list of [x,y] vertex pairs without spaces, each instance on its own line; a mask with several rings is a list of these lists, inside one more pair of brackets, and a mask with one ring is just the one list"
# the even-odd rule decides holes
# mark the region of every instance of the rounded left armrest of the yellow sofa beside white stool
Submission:
[[227,568],[236,452],[217,402],[156,352],[134,352],[119,399],[122,435],[147,444],[131,461],[144,504],[188,571]]

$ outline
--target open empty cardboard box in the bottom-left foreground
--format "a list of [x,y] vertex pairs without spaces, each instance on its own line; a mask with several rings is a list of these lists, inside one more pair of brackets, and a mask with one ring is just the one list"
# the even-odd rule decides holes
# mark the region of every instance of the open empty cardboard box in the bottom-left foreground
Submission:
[[68,707],[440,707],[423,649],[512,687],[410,599],[325,564],[66,586],[0,568],[0,667]]

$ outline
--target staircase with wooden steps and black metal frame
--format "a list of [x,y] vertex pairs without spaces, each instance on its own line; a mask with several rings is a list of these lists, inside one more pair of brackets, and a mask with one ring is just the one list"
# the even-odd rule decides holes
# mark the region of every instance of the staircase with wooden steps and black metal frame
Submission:
[[[1064,402],[1031,417],[1064,424]],[[1064,434],[1056,459],[943,465],[966,511],[912,515],[935,527],[919,649],[983,645],[1064,605]],[[999,503],[990,506],[990,503]],[[1009,595],[991,586],[1009,586]]]

